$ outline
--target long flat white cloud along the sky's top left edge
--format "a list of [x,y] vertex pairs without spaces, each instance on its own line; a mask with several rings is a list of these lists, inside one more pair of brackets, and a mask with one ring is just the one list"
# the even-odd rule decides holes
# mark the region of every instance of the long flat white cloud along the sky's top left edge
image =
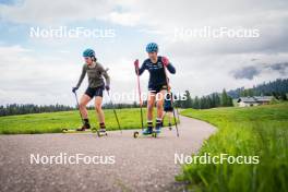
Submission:
[[15,23],[53,25],[103,17],[112,8],[109,0],[25,0],[13,5],[0,4],[0,15],[2,20]]

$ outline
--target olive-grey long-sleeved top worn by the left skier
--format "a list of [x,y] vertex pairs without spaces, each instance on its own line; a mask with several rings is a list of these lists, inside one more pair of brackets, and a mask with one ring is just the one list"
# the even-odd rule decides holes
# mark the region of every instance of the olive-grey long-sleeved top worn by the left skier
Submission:
[[110,77],[107,71],[103,68],[103,65],[98,62],[93,62],[91,65],[85,63],[82,68],[82,73],[79,79],[76,87],[80,87],[82,81],[85,75],[88,75],[88,87],[98,87],[105,85],[103,76],[106,80],[106,85],[110,85]]

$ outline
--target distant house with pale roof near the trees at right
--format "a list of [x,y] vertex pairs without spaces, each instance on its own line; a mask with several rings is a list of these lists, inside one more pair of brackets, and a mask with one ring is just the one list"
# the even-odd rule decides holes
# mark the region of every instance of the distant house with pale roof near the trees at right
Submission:
[[259,105],[266,105],[273,99],[273,96],[253,96],[253,97],[240,97],[237,103],[239,107],[251,107]]

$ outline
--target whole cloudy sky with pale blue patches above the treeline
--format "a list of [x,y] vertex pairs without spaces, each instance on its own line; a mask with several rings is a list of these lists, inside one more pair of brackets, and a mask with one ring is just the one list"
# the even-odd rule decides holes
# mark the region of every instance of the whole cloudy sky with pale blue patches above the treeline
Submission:
[[[110,69],[113,93],[135,91],[133,60],[146,59],[151,41],[177,69],[175,92],[201,96],[287,77],[287,0],[0,0],[0,105],[74,105],[71,87],[88,47]],[[32,28],[60,27],[96,36],[32,36]],[[248,35],[195,33],[207,28]],[[143,91],[147,79],[145,72]]]

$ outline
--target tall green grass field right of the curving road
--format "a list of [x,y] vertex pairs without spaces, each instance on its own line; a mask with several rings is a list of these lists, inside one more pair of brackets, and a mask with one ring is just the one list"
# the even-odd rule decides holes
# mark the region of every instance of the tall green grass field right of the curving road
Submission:
[[[177,180],[192,191],[288,191],[288,104],[188,109],[184,116],[218,128],[197,155],[260,156],[257,165],[190,164]],[[192,154],[195,155],[195,154]]]

